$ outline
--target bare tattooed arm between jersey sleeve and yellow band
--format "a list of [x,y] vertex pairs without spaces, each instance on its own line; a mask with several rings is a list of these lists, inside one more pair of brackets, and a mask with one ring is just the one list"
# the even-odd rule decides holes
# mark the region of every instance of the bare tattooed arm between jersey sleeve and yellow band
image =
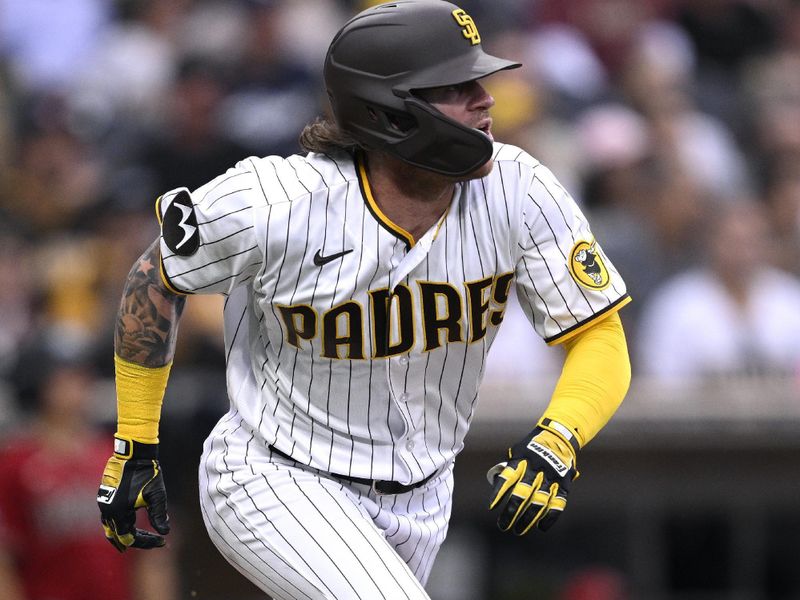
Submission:
[[159,252],[156,240],[128,274],[114,334],[117,355],[146,367],[162,367],[172,360],[186,304],[186,296],[174,294],[161,281]]

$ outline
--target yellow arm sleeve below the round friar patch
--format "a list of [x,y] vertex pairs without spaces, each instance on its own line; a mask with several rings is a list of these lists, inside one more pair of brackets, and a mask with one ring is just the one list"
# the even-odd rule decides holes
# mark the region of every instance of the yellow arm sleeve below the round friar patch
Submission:
[[616,412],[631,364],[622,321],[614,313],[564,342],[567,356],[543,418],[571,429],[583,447]]

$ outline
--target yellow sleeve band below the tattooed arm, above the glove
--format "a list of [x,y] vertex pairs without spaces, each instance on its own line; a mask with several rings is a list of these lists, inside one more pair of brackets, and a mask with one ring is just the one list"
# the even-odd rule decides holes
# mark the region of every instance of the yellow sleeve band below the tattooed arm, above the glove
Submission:
[[114,355],[117,435],[143,444],[158,443],[161,403],[172,363],[143,367]]

